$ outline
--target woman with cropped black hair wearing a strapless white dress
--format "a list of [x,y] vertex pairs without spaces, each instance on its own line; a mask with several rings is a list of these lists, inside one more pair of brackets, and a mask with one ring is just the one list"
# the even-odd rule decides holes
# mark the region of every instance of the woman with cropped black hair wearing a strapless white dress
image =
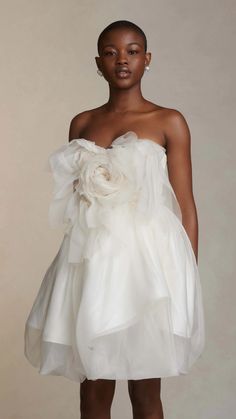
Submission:
[[76,115],[49,158],[50,220],[66,230],[25,353],[40,373],[80,381],[82,419],[110,417],[117,379],[135,419],[160,419],[161,377],[187,374],[204,347],[190,132],[142,95],[151,53],[137,25],[111,23],[98,53],[109,99]]

